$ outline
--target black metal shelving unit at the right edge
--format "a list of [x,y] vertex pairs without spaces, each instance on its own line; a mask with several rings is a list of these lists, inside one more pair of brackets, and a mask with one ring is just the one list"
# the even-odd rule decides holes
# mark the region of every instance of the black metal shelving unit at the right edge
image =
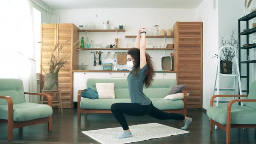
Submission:
[[[249,93],[249,63],[256,63],[256,60],[242,61],[241,62],[241,50],[246,50],[246,57],[249,56],[249,49],[256,48],[256,44],[250,44],[249,46],[241,47],[241,36],[246,36],[246,44],[249,44],[249,35],[252,33],[256,33],[256,27],[249,29],[249,20],[256,18],[256,11],[253,13],[249,13],[246,16],[238,19],[238,61],[239,61],[239,71],[241,75],[241,64],[246,64],[246,75],[241,75],[241,78],[246,79],[246,90],[242,90],[242,92],[246,92],[247,95]],[[241,32],[241,21],[246,21],[246,31]],[[247,59],[247,58],[246,58]]]

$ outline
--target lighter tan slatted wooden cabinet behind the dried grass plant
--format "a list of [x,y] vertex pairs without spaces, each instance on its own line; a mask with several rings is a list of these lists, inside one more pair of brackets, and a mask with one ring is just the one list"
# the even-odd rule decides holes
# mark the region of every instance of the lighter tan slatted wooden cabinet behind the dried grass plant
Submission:
[[[78,52],[73,50],[73,43],[78,39],[78,28],[74,24],[42,24],[41,25],[41,65],[45,72],[49,72],[49,62],[56,43],[63,48],[58,53],[61,58],[64,53],[68,64],[59,71],[59,90],[62,92],[62,107],[73,108],[73,77],[72,70],[78,63]],[[74,52],[74,53],[73,53]],[[74,60],[74,62],[73,62]],[[41,69],[40,82],[43,89],[45,72]]]

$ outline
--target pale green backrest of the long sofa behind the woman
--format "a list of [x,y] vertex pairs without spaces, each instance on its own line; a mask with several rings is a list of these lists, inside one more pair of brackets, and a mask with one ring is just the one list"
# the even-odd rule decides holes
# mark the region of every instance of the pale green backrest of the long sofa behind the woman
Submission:
[[[96,89],[96,83],[115,83],[115,98],[130,98],[127,79],[87,79],[87,88]],[[148,98],[164,98],[171,88],[177,85],[176,79],[154,79],[149,88],[143,88]]]

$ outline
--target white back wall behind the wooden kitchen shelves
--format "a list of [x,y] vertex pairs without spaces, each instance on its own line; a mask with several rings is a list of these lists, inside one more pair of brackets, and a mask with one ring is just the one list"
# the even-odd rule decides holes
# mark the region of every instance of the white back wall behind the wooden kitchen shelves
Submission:
[[[102,23],[102,21],[110,20],[111,26],[124,25],[126,32],[118,33],[118,47],[125,48],[133,46],[132,38],[125,38],[125,35],[136,35],[140,27],[148,27],[153,29],[155,24],[160,29],[173,29],[176,21],[195,21],[194,9],[65,9],[54,10],[59,13],[59,23],[74,23],[76,26],[90,24],[91,21]],[[98,14],[98,17],[95,15]],[[50,22],[56,23],[56,17],[51,16]],[[86,37],[85,32],[79,33],[79,38]],[[90,39],[95,44],[114,44],[116,33],[88,33]],[[156,46],[162,45],[164,39],[147,39]],[[167,43],[173,43],[173,39],[166,39]],[[126,50],[127,51],[127,50]],[[118,51],[121,52],[121,51]],[[156,70],[161,70],[161,57],[164,56],[163,50],[147,51],[154,60]],[[166,51],[169,55],[170,51]],[[88,69],[102,69],[102,66],[93,66],[94,55],[90,51],[79,52],[79,64],[88,64]],[[103,62],[113,62],[112,59],[103,59]],[[126,65],[118,65],[118,69],[128,69]]]

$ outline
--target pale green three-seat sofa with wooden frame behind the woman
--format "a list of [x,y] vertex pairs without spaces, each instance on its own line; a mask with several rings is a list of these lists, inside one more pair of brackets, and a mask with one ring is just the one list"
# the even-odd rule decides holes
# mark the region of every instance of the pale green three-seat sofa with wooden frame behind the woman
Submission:
[[[96,83],[115,83],[115,98],[81,98],[81,91],[78,92],[78,121],[81,113],[111,113],[111,105],[118,102],[131,103],[127,79],[87,79],[87,88],[96,90]],[[151,99],[153,105],[166,112],[175,112],[187,115],[187,93],[184,93],[183,100],[164,99],[171,88],[177,85],[176,79],[154,79],[150,88],[144,88],[143,92]]]

